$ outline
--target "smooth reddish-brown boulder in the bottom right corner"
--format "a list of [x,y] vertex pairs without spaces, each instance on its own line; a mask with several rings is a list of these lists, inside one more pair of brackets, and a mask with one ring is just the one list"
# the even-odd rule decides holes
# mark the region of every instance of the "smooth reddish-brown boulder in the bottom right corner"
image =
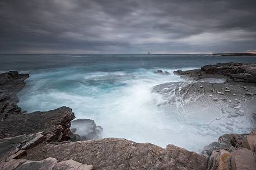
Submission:
[[256,161],[253,152],[245,148],[235,150],[232,152],[231,166],[232,170],[256,169]]

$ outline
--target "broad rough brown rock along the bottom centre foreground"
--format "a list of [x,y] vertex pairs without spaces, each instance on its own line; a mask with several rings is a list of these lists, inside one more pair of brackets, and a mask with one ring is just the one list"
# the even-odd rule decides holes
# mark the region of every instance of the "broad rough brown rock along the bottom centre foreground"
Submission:
[[166,149],[150,143],[105,138],[64,144],[48,144],[42,152],[29,152],[26,159],[48,157],[64,161],[73,159],[92,164],[94,169],[206,169],[207,159],[183,148],[167,145]]

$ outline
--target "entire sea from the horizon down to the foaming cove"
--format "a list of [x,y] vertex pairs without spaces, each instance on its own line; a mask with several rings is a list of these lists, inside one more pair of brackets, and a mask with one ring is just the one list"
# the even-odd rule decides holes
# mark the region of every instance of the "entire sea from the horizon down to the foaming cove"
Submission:
[[[161,95],[151,93],[164,82],[184,81],[174,70],[218,62],[256,62],[250,56],[35,54],[0,55],[0,72],[29,72],[18,94],[28,112],[69,106],[78,118],[94,119],[103,137],[127,138],[164,147],[175,144],[200,152],[217,135],[197,133],[202,122],[188,124],[175,110],[165,110]],[[154,74],[156,70],[170,75]],[[188,113],[189,114],[189,113]],[[190,113],[195,114],[195,113]]]

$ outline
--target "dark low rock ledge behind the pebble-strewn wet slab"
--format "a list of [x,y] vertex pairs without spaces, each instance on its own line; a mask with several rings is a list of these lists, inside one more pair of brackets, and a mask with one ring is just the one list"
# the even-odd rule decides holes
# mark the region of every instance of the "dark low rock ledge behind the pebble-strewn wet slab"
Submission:
[[196,79],[207,77],[227,76],[236,82],[256,82],[256,64],[243,62],[218,63],[216,65],[206,65],[201,69],[188,71],[174,71],[175,74],[188,75]]

